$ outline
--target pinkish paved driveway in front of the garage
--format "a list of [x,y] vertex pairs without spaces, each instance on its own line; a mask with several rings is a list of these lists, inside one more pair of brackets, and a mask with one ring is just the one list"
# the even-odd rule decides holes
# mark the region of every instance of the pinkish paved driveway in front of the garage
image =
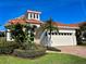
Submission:
[[86,57],[86,46],[57,47],[57,48],[61,50],[62,53],[69,53],[69,54]]

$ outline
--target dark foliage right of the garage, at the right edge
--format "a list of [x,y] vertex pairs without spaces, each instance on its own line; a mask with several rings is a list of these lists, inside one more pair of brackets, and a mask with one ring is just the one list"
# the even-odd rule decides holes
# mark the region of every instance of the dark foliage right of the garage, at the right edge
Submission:
[[86,40],[86,22],[78,24],[79,29],[76,30],[76,39],[77,43],[81,44],[84,40]]

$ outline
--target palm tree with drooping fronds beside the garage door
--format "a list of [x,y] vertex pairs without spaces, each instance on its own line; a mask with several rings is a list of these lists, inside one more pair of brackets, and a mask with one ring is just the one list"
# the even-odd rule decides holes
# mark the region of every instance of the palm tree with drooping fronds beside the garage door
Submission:
[[44,23],[38,29],[37,29],[37,35],[39,34],[39,33],[42,33],[42,31],[49,31],[50,33],[50,39],[51,39],[51,33],[53,31],[53,30],[57,30],[58,33],[59,33],[59,30],[58,30],[58,27],[56,27],[56,26],[53,26],[52,25],[52,18],[49,18],[46,23]]

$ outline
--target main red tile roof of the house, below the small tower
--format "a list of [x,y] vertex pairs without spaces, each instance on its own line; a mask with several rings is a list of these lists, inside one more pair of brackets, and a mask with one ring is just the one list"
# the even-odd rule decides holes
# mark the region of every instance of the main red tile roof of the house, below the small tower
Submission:
[[[23,24],[23,23],[29,23],[29,24],[41,24],[42,22],[37,21],[37,20],[22,20],[22,18],[16,18],[16,20],[11,20],[9,22],[10,24]],[[54,26],[67,26],[67,27],[78,27],[78,24],[62,24],[58,22],[52,22],[52,25]]]

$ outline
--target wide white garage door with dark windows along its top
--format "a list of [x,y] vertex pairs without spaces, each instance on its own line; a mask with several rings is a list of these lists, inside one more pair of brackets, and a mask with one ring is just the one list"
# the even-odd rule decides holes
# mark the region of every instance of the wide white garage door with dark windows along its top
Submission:
[[73,34],[52,35],[50,46],[76,46],[76,38]]

